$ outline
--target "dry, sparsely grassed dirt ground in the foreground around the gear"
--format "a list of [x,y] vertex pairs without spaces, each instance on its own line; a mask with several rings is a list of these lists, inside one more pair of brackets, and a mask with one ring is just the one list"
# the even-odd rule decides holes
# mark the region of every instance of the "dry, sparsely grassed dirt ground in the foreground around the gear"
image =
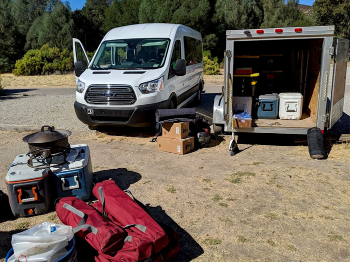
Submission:
[[[0,132],[3,178],[14,157],[27,151],[24,135]],[[349,144],[333,145],[327,160],[315,161],[305,146],[263,136],[260,141],[274,145],[247,139],[234,157],[230,136],[183,156],[157,151],[150,137],[81,133],[69,139],[89,145],[99,180],[111,177],[180,234],[178,261],[350,258]],[[2,261],[11,234],[43,221],[58,222],[51,212],[0,223]]]

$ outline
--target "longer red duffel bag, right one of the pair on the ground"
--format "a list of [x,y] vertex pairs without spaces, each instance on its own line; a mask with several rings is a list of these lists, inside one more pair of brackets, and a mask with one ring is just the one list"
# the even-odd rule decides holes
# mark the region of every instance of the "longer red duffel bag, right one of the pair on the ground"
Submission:
[[[159,253],[169,241],[164,230],[129,195],[112,180],[97,183],[93,195],[102,205],[102,213],[111,221],[149,239],[153,243],[153,254]],[[116,203],[117,202],[117,203]],[[139,225],[146,228],[137,227]]]

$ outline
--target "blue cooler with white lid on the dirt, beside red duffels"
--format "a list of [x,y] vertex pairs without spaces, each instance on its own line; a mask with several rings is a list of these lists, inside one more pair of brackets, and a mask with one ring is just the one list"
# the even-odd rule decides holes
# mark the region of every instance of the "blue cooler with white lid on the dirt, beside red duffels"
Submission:
[[90,150],[86,144],[72,145],[70,147],[78,150],[75,159],[71,163],[67,162],[50,168],[55,175],[57,196],[76,196],[78,199],[87,200],[92,191],[93,176]]

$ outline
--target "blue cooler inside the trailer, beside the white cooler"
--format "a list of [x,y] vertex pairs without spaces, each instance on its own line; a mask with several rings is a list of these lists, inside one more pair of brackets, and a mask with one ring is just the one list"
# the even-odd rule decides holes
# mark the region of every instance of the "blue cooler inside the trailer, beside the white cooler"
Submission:
[[278,116],[279,98],[277,93],[260,95],[257,118],[276,119]]

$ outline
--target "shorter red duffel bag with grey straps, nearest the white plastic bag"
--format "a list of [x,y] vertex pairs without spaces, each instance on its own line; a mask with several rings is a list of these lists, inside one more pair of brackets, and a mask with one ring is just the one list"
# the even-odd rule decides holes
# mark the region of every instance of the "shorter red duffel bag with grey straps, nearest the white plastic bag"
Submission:
[[124,245],[125,230],[76,197],[59,200],[56,213],[64,225],[73,228],[78,237],[86,240],[98,253],[113,256]]

